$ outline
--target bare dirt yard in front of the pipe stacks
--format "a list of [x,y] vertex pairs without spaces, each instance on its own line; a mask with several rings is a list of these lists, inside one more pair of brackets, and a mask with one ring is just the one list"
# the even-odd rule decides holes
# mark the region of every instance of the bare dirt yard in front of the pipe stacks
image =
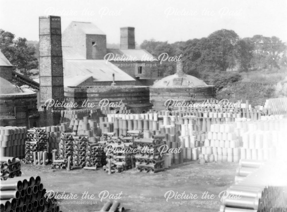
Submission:
[[[56,194],[58,192],[58,202],[63,201],[63,204],[58,203],[61,211],[99,211],[109,197],[112,201],[112,198],[120,197],[118,200],[121,205],[125,211],[130,212],[207,212],[219,210],[221,204],[219,194],[234,182],[237,166],[235,163],[201,165],[189,162],[154,174],[127,170],[108,175],[102,168],[96,171],[84,169],[67,171],[51,169],[51,165],[22,164],[21,171],[22,176],[39,175],[47,191],[52,190]],[[164,195],[168,191],[170,192],[166,197],[170,195],[170,199],[166,201]],[[69,197],[72,194],[74,199],[59,199],[59,195],[63,192]],[[85,192],[88,192],[89,196],[83,197]],[[173,192],[177,199],[172,197]],[[193,196],[193,199],[179,199],[180,196],[176,195],[176,192],[178,194],[185,192],[188,198],[191,197],[190,193],[197,194],[197,198]],[[210,196],[205,196],[204,199],[202,197],[204,192],[208,192]]]

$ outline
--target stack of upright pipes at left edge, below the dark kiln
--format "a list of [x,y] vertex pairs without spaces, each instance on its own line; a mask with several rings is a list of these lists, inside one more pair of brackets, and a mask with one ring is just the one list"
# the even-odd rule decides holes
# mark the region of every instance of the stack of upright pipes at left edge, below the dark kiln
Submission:
[[0,156],[24,158],[27,127],[0,127]]

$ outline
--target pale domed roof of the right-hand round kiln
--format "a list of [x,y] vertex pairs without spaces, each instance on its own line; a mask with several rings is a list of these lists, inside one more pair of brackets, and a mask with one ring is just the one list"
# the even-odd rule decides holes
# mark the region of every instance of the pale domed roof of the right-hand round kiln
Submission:
[[184,74],[179,76],[178,74],[173,74],[166,76],[161,80],[154,83],[153,86],[158,87],[172,87],[172,86],[206,86],[207,84],[196,78],[195,76]]

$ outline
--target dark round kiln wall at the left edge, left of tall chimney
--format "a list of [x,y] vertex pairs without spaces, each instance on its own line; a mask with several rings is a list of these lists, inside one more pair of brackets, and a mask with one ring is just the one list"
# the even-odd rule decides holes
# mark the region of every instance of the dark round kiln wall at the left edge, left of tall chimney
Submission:
[[[33,127],[38,121],[37,95],[30,94],[3,94],[0,95],[0,125],[1,126],[28,126]],[[29,118],[32,116],[32,118]]]

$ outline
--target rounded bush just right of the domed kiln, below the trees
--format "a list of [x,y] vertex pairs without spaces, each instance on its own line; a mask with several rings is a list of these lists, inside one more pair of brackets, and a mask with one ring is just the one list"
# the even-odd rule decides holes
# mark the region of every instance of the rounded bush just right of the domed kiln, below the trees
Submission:
[[210,85],[214,85],[216,92],[222,88],[229,87],[241,80],[241,74],[238,72],[216,72],[208,77]]

